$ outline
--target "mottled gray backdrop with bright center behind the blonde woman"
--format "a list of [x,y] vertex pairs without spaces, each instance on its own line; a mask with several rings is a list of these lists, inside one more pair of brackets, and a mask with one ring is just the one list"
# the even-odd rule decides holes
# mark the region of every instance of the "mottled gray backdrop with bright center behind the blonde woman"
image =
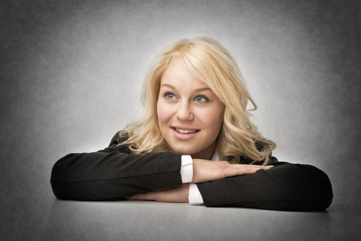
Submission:
[[360,1],[1,1],[0,11],[1,235],[42,232],[54,162],[103,149],[141,116],[149,63],[194,36],[233,54],[274,156],[324,170],[333,205],[360,205]]

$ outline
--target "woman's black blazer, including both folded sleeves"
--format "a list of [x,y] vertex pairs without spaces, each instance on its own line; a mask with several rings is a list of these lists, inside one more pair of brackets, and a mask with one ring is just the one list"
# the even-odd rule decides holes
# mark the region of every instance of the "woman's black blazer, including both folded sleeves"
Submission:
[[[119,146],[126,138],[117,132],[110,145],[92,153],[68,154],[52,168],[54,195],[68,200],[124,200],[143,191],[174,188],[182,184],[180,154],[171,152],[132,154]],[[248,164],[251,160],[242,158]],[[278,162],[256,174],[197,183],[205,206],[313,211],[332,202],[331,182],[311,165]]]

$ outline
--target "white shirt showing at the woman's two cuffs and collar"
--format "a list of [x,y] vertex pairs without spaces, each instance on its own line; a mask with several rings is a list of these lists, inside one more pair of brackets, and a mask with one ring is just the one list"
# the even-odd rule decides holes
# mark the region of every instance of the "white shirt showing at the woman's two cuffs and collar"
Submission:
[[[180,176],[182,177],[182,183],[192,182],[193,178],[193,160],[189,155],[182,155],[182,164],[180,166]],[[217,149],[214,151],[211,160],[220,160]],[[198,187],[195,183],[189,184],[189,196],[190,205],[203,205],[203,198],[200,195]]]

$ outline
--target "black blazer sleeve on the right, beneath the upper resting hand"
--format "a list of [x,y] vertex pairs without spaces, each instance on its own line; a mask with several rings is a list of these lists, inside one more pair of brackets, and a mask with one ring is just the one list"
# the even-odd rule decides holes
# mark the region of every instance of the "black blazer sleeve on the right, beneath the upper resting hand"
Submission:
[[331,205],[328,176],[311,165],[281,163],[271,169],[198,183],[205,206],[247,207],[287,211],[318,211]]

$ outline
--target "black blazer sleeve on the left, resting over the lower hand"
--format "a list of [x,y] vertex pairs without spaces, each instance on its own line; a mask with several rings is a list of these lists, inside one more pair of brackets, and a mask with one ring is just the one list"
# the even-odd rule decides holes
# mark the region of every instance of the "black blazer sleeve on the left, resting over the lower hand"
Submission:
[[131,154],[127,147],[116,146],[123,140],[117,133],[103,150],[58,160],[50,178],[54,195],[68,200],[116,200],[182,184],[180,154]]

